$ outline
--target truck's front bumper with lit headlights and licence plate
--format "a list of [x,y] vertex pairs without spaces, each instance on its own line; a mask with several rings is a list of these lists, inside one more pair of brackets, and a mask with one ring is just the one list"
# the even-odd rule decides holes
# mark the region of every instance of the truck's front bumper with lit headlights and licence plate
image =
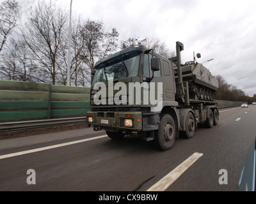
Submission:
[[141,112],[88,112],[86,120],[95,130],[142,131]]

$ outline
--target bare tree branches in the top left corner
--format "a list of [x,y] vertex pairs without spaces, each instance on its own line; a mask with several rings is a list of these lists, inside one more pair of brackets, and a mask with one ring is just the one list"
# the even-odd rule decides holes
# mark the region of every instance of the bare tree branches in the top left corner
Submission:
[[16,26],[19,17],[19,5],[15,0],[3,1],[0,5],[0,52],[3,50],[4,44],[8,36],[10,36],[13,28]]

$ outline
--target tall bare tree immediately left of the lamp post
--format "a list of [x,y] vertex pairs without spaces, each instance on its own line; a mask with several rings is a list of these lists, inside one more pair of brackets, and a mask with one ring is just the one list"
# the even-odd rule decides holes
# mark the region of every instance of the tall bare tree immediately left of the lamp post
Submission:
[[38,1],[28,23],[22,29],[22,37],[30,55],[40,69],[44,69],[52,84],[63,84],[61,43],[67,33],[65,10],[52,1]]

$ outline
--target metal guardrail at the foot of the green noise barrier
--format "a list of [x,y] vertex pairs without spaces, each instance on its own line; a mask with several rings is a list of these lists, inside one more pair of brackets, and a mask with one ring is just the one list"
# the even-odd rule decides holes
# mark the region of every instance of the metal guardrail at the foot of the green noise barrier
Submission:
[[0,133],[8,131],[17,131],[31,128],[49,128],[52,126],[68,125],[68,124],[84,124],[86,117],[74,117],[67,119],[49,119],[49,120],[30,120],[22,122],[2,122],[0,123]]

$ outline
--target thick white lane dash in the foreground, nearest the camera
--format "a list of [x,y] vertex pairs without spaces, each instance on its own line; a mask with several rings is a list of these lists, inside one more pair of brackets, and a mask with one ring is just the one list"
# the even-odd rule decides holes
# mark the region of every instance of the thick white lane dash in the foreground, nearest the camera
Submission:
[[202,157],[204,154],[201,153],[195,153],[186,161],[181,163],[179,166],[177,166],[174,170],[172,170],[168,175],[163,177],[163,179],[159,180],[156,184],[154,184],[152,187],[150,187],[147,191],[165,191],[169,186],[177,180],[182,173],[184,173],[190,166],[192,166],[193,163],[195,163],[200,157]]

